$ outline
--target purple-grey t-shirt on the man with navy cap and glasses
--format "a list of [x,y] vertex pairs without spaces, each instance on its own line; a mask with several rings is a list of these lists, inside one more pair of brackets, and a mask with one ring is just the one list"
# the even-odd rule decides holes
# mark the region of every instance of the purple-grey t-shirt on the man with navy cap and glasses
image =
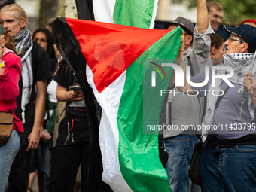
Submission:
[[[216,74],[218,71],[216,71]],[[194,83],[200,83],[205,80],[205,72],[195,75],[191,78]],[[212,84],[212,69],[209,69],[209,81],[203,87],[190,86],[192,90],[197,90],[197,96],[205,96],[205,93],[209,93],[209,87]],[[242,91],[237,93],[237,90],[242,87],[242,84],[233,84],[235,87],[230,87],[223,99],[219,103],[218,108],[215,109],[215,113],[212,118],[212,125],[215,125],[215,133],[221,140],[239,139],[242,136],[256,133],[256,117],[253,119],[248,110],[248,93],[245,96],[245,102],[242,105]],[[220,90],[227,88],[226,82],[223,81]],[[197,93],[197,92],[195,92]],[[242,105],[242,116],[238,120],[240,108]]]

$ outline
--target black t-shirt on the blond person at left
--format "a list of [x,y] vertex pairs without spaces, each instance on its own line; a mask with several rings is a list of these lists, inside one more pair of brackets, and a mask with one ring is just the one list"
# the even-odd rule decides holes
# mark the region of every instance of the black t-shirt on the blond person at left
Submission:
[[[36,96],[35,83],[36,81],[42,81],[51,77],[50,65],[49,65],[46,51],[34,41],[31,52],[32,52],[33,87],[32,87],[32,94],[29,99],[29,103],[25,107],[25,124],[23,125],[25,133],[30,133],[32,130],[32,126],[34,125],[35,96]],[[15,114],[20,120],[22,120],[22,117],[21,117],[21,113],[22,113],[21,96],[22,96],[22,90],[23,90],[22,78],[20,78],[20,81],[19,81],[19,89],[20,89],[20,94],[17,97],[17,109],[15,111]],[[26,130],[26,127],[29,127],[27,128],[29,130]]]

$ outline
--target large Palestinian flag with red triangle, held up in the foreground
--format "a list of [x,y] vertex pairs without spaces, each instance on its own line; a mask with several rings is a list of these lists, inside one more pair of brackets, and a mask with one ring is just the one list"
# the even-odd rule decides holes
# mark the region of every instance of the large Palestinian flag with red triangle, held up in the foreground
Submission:
[[160,90],[167,89],[172,74],[162,63],[175,62],[181,32],[68,18],[53,23],[69,65],[87,60],[87,81],[102,107],[102,180],[114,191],[171,191],[159,159],[158,131],[148,125],[159,123]]

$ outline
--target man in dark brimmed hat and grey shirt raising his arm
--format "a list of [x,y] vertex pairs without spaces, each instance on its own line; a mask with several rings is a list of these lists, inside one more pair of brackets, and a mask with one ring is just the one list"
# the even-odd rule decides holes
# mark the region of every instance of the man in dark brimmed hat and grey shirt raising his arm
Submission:
[[[205,66],[211,66],[209,57],[210,34],[214,33],[209,24],[209,14],[206,8],[206,0],[197,0],[197,26],[194,27],[190,20],[178,17],[175,21],[166,23],[165,29],[175,29],[178,20],[181,29],[184,29],[184,58],[185,69],[190,66],[190,76],[205,71]],[[193,41],[193,47],[192,47]],[[181,50],[182,51],[182,50]],[[197,130],[190,131],[183,128],[195,129],[201,124],[203,112],[203,99],[196,96],[187,96],[178,91],[177,87],[172,90],[168,111],[169,125],[178,126],[178,130],[163,130],[166,151],[169,153],[167,163],[167,175],[173,192],[190,191],[191,186],[188,178],[188,166],[190,165],[194,145],[198,142]],[[170,96],[169,96],[170,98]],[[171,113],[171,114],[170,114]],[[200,191],[200,187],[197,186]]]

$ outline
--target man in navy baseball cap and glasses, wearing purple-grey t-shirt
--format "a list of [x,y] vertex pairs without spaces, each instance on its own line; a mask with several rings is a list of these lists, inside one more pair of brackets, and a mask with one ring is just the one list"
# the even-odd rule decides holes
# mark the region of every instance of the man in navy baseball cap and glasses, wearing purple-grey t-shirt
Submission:
[[[178,90],[203,96],[207,93],[206,115],[202,129],[203,147],[200,156],[200,173],[204,192],[240,192],[256,189],[256,98],[244,91],[249,89],[251,80],[256,77],[255,49],[256,28],[241,25],[236,28],[225,26],[230,34],[225,42],[227,53],[217,75],[233,72],[228,82],[218,79],[215,85],[212,78],[202,87],[194,87],[184,80],[184,87]],[[182,65],[181,65],[182,66]],[[252,69],[252,70],[251,70]],[[209,69],[212,74],[213,69]],[[251,71],[251,72],[248,72]],[[250,75],[251,77],[246,77]],[[201,83],[205,73],[191,78]],[[212,94],[215,92],[215,94]],[[219,97],[218,93],[222,94]],[[250,93],[250,92],[249,92]]]

